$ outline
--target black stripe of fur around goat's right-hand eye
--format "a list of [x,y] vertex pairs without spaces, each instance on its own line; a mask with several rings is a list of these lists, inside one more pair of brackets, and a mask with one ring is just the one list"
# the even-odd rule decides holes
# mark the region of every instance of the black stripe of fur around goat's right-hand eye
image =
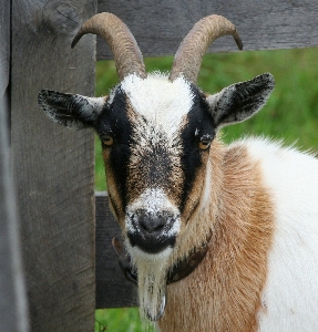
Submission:
[[203,154],[208,153],[208,148],[202,151],[198,147],[199,142],[207,137],[213,139],[216,133],[216,125],[209,115],[208,105],[205,102],[204,95],[194,85],[192,86],[192,92],[194,95],[193,106],[187,114],[187,124],[182,131],[183,154],[181,162],[185,178],[182,210],[185,207],[186,198],[193,187],[196,172],[202,165]]

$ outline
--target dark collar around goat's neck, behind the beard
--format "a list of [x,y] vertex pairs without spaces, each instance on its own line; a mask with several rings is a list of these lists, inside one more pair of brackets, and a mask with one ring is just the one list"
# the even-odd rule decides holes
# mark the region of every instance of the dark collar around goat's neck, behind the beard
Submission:
[[[186,278],[195,270],[195,268],[202,262],[206,255],[209,239],[211,236],[205,242],[202,243],[199,248],[194,248],[187,257],[177,261],[177,263],[173,266],[173,268],[167,273],[167,284]],[[131,257],[124,249],[122,238],[114,237],[112,240],[112,245],[115,253],[119,257],[119,263],[125,278],[129,281],[132,281],[133,283],[137,284],[137,273],[135,270],[132,269]]]

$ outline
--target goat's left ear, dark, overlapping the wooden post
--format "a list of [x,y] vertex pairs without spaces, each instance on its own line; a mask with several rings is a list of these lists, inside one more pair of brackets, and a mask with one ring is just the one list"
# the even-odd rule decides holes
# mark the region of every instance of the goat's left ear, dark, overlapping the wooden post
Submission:
[[85,97],[42,90],[38,102],[51,120],[66,127],[81,129],[94,126],[105,104],[105,97]]

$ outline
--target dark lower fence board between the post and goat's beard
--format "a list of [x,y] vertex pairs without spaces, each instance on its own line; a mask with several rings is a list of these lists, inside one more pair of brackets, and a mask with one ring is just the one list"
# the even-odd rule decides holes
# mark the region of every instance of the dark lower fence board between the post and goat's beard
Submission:
[[112,248],[112,238],[121,234],[109,208],[106,193],[96,193],[96,309],[136,307],[136,288],[122,273]]

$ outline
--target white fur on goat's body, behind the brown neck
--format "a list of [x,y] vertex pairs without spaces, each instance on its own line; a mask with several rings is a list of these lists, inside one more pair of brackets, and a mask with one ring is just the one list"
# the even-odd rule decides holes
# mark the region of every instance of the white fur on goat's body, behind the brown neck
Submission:
[[274,245],[259,331],[318,331],[318,160],[265,139],[245,139],[275,204]]

